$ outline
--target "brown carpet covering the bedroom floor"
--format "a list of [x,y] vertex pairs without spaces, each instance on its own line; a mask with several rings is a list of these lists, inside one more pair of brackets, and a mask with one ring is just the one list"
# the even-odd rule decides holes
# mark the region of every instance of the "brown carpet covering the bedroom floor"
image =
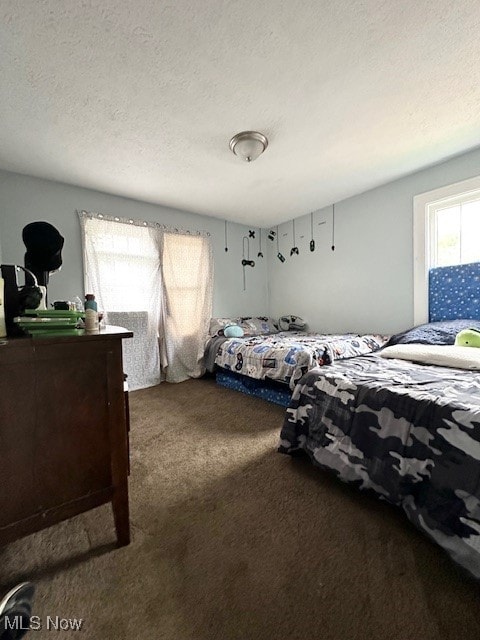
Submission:
[[480,587],[395,508],[276,453],[283,410],[192,380],[131,394],[133,541],[109,507],[0,551],[98,640],[480,637]]

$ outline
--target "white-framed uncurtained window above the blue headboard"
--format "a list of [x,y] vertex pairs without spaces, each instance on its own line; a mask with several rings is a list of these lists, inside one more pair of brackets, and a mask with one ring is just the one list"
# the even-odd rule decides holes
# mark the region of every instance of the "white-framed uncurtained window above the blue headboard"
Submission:
[[480,176],[414,198],[414,324],[428,319],[432,267],[480,261]]

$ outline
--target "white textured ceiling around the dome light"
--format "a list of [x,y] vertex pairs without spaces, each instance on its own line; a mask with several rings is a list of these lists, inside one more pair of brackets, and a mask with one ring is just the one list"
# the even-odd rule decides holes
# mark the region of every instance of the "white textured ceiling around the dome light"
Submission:
[[[480,144],[479,0],[2,0],[0,168],[268,226]],[[267,151],[244,164],[244,129]]]

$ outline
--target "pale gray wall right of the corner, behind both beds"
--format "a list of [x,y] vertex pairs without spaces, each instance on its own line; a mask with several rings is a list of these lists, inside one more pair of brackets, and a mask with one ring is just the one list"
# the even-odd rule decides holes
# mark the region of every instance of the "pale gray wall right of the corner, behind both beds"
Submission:
[[[292,223],[279,228],[280,249],[269,242],[270,314],[303,317],[312,330],[393,333],[413,324],[413,197],[480,174],[480,149],[295,220],[300,255],[290,257]],[[326,224],[318,226],[318,222]],[[283,234],[287,233],[287,237]],[[300,236],[304,236],[303,239]]]

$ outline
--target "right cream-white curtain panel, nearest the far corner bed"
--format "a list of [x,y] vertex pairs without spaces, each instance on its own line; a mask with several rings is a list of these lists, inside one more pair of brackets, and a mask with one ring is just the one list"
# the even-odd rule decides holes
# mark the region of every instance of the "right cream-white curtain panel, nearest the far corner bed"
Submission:
[[166,379],[182,382],[204,373],[203,354],[212,315],[213,256],[210,238],[163,234]]

